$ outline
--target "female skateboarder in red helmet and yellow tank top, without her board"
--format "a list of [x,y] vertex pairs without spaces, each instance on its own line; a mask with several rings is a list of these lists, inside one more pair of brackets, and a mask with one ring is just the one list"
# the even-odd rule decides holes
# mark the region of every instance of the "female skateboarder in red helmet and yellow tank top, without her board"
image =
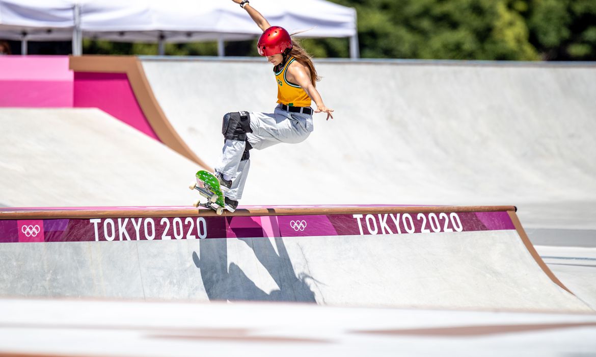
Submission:
[[[271,26],[248,0],[232,0],[240,4],[263,30],[257,48],[261,56],[274,65],[277,79],[277,103],[273,113],[234,112],[224,115],[222,134],[224,149],[215,176],[225,195],[225,208],[234,211],[242,198],[250,168],[249,150],[262,150],[278,143],[300,143],[312,132],[312,113],[333,110],[325,106],[316,90],[320,78],[311,57],[279,26]],[[311,108],[311,100],[316,109]]]

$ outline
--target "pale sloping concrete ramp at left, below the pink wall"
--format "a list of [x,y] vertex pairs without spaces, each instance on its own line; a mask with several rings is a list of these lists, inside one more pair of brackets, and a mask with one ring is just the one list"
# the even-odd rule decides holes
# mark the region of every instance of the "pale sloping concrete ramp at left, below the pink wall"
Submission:
[[197,164],[98,109],[0,109],[0,206],[191,202]]

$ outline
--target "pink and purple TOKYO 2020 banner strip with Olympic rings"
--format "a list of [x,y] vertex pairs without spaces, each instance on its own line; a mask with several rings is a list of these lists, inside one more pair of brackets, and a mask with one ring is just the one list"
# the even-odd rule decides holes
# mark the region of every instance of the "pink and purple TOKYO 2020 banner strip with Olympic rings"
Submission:
[[0,242],[403,235],[515,229],[509,214],[381,213],[254,217],[0,220]]

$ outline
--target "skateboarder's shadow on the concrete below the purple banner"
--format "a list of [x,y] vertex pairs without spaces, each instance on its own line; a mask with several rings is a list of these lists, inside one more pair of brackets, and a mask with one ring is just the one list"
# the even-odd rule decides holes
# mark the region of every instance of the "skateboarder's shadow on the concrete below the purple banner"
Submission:
[[275,238],[275,252],[267,238],[238,238],[254,252],[274,279],[279,290],[266,293],[234,262],[228,268],[228,239],[201,239],[199,255],[193,252],[194,264],[201,270],[201,279],[209,300],[255,300],[316,302],[308,285],[314,279],[306,274],[296,276],[282,238]]

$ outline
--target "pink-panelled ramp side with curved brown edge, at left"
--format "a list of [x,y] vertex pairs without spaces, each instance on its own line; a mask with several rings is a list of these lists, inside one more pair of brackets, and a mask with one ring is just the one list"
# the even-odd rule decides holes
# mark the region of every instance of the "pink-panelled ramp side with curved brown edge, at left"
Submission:
[[135,57],[2,56],[0,107],[93,107],[211,170],[163,115]]

